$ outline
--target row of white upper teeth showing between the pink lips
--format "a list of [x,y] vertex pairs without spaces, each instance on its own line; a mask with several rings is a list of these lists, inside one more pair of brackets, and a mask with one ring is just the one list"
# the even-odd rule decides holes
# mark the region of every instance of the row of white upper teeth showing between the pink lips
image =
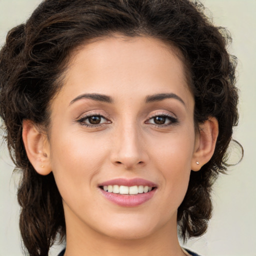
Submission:
[[103,186],[104,191],[116,194],[138,194],[147,193],[152,190],[151,186],[118,186],[118,185],[105,185]]

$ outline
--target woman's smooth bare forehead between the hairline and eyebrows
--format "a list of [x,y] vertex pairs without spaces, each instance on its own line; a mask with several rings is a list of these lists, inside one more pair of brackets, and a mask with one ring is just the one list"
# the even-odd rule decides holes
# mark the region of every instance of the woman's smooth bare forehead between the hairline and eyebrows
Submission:
[[184,101],[190,100],[179,56],[175,47],[152,37],[99,38],[73,52],[61,91],[69,99],[78,93],[110,93],[120,98],[120,94],[124,97],[171,92],[182,94]]

